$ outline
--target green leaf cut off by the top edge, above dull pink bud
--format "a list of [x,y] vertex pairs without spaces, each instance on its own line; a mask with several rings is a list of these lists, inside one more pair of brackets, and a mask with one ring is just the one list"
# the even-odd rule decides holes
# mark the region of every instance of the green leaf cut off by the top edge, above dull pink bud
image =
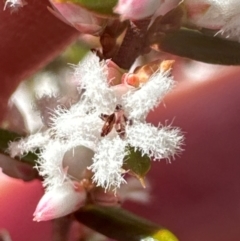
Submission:
[[114,16],[113,8],[118,0],[59,0],[59,2],[72,2],[97,14]]

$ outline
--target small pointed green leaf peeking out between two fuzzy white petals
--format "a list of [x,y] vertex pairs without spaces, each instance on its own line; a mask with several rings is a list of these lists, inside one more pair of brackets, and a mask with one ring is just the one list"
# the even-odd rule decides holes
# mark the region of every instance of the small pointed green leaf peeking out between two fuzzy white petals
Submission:
[[[142,155],[140,150],[128,147],[129,155],[125,157],[123,169],[130,170],[130,174],[135,175],[143,182],[144,177],[151,168],[151,159],[148,155]],[[142,183],[144,185],[144,183]]]

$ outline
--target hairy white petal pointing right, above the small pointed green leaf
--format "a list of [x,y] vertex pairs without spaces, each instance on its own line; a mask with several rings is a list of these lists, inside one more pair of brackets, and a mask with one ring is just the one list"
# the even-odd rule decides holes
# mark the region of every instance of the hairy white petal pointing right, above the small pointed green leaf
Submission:
[[135,123],[127,128],[127,141],[154,160],[170,160],[181,150],[183,136],[179,129]]

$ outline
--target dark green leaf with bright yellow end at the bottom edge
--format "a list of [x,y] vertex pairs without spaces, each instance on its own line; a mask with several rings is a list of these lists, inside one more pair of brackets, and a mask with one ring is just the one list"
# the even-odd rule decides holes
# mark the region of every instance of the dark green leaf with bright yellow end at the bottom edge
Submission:
[[75,213],[77,220],[118,241],[178,241],[168,229],[117,207],[87,205]]

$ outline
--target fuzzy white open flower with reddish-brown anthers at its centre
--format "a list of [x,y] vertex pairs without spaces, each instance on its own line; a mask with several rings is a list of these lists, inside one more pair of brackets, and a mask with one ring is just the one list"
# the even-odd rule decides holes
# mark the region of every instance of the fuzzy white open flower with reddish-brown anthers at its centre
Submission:
[[[92,173],[93,185],[116,192],[126,182],[129,170],[124,164],[132,150],[153,160],[170,160],[181,151],[178,128],[155,127],[145,120],[174,86],[170,72],[159,69],[138,88],[126,83],[111,86],[107,76],[107,64],[89,54],[74,72],[80,100],[68,109],[58,106],[47,130],[10,143],[12,156],[38,150],[45,195],[81,182],[85,171]],[[77,168],[79,175],[71,171]]]

